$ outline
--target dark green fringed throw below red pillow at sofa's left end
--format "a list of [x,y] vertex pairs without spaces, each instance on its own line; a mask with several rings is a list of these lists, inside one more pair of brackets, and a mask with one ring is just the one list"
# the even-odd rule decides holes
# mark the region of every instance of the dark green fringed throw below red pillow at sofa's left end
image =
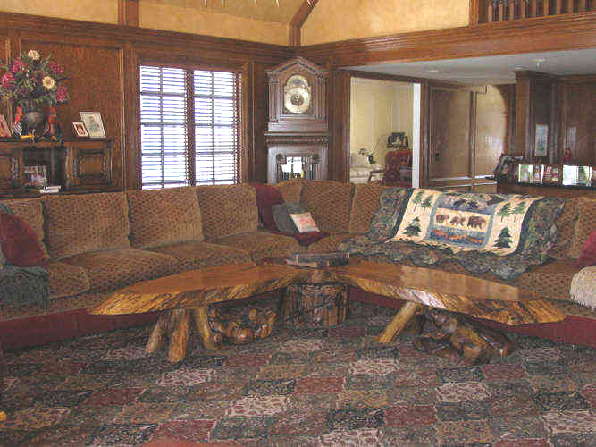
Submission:
[[[0,203],[0,213],[13,214],[13,211]],[[0,228],[0,240],[5,237]],[[10,264],[0,265],[0,306],[46,307],[50,299],[48,275],[41,266],[18,267]]]

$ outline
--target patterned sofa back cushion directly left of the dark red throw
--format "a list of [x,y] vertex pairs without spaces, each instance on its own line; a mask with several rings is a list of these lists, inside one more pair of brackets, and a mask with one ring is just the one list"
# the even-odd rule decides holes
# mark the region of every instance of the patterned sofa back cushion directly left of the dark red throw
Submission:
[[203,234],[216,240],[243,232],[256,232],[256,190],[248,185],[197,186]]

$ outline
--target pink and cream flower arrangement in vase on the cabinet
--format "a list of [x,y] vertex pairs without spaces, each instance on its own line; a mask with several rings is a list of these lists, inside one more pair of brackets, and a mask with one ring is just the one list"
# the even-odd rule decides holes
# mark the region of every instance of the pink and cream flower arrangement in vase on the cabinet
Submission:
[[13,101],[23,111],[34,110],[41,105],[55,106],[68,100],[66,86],[60,83],[66,79],[59,63],[41,58],[38,51],[29,50],[4,65],[6,71],[0,79],[0,97]]

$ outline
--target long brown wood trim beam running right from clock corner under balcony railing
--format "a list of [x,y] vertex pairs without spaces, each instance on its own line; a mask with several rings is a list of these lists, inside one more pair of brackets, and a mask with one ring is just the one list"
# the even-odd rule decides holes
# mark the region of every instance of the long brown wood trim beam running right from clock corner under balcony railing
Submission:
[[348,67],[594,46],[596,12],[590,12],[300,46],[297,54],[310,60],[329,59],[335,67]]

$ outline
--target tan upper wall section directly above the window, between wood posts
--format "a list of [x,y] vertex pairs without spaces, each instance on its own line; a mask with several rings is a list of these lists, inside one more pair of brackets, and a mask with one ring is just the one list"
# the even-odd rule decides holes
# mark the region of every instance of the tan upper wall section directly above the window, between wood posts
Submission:
[[290,35],[287,24],[153,2],[140,2],[139,26],[277,45],[288,45]]

